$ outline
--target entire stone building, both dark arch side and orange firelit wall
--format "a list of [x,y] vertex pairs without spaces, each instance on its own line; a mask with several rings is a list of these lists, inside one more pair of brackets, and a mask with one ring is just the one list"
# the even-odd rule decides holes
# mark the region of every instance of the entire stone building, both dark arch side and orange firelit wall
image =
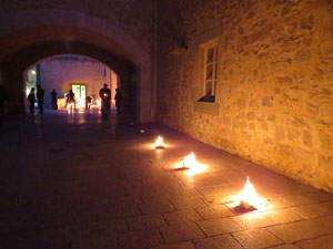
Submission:
[[332,9],[332,0],[3,0],[1,81],[20,107],[14,94],[32,64],[95,58],[137,90],[139,121],[333,193]]

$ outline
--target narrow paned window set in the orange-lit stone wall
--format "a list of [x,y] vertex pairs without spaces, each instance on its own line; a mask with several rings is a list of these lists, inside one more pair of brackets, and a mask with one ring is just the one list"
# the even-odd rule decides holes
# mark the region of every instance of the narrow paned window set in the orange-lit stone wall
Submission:
[[218,40],[204,45],[203,95],[214,98],[218,82],[219,45]]

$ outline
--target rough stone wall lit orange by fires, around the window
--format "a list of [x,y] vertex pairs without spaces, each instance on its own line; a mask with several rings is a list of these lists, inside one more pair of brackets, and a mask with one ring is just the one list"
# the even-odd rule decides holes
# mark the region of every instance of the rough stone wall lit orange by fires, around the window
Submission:
[[[329,0],[184,0],[176,20],[169,18],[174,7],[163,7],[159,23],[183,31],[159,33],[159,121],[333,193],[332,7]],[[180,37],[188,52],[172,55]],[[215,38],[216,100],[198,103],[200,45]]]

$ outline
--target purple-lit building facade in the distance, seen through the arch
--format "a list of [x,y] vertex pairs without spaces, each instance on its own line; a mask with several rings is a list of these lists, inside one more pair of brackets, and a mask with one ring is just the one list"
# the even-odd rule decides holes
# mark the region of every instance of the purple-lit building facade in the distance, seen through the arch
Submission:
[[63,98],[72,85],[84,85],[85,96],[99,96],[103,83],[109,85],[112,95],[115,94],[118,87],[117,74],[109,66],[89,58],[57,56],[44,60],[38,65],[39,83],[46,91],[46,108],[51,108],[50,93],[53,89],[58,93],[58,98]]

